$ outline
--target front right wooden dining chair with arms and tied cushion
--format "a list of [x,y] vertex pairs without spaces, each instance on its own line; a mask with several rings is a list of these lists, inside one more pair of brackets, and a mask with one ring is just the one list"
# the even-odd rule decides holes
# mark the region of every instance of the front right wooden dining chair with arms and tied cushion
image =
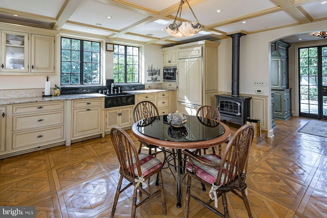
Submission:
[[[242,126],[229,140],[222,157],[216,154],[199,156],[188,150],[183,151],[183,153],[189,157],[189,163],[186,164],[188,183],[184,217],[188,217],[189,214],[190,197],[212,212],[222,217],[229,217],[226,199],[226,192],[229,191],[243,200],[249,217],[252,217],[250,205],[246,197],[247,185],[245,179],[253,135],[254,128],[251,124]],[[211,187],[209,191],[209,200],[201,200],[196,197],[194,195],[196,192],[191,194],[192,178]],[[198,188],[195,190],[197,191]],[[237,191],[241,192],[241,195]],[[219,197],[222,197],[224,213],[217,209]],[[214,207],[212,203],[214,203]]]

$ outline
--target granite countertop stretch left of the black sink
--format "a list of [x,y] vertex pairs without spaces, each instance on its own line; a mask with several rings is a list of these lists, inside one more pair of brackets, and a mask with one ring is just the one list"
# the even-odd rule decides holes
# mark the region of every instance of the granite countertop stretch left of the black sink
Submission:
[[89,99],[89,98],[102,98],[105,94],[100,93],[85,93],[85,94],[63,94],[60,96],[51,97],[31,97],[31,98],[13,98],[13,99],[0,99],[1,105],[12,105],[21,103],[34,103],[34,102],[50,102],[50,101],[63,101],[74,99]]

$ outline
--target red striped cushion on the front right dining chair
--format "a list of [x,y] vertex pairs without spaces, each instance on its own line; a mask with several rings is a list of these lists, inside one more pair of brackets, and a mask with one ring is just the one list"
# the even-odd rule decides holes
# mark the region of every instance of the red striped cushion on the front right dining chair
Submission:
[[[221,158],[219,158],[218,155],[216,154],[206,154],[200,157],[200,159],[205,160],[205,161],[212,161],[212,162],[216,162],[216,163],[220,163],[221,162]],[[193,160],[193,164],[195,166],[195,171],[196,171],[196,175],[203,179],[204,181],[206,181],[209,184],[213,184],[216,182],[217,180],[217,176],[218,176],[218,167],[210,167],[210,166],[205,166],[199,162],[197,162],[196,160]],[[186,169],[190,172],[192,172],[192,166],[190,163],[186,164]],[[235,169],[236,167],[234,167],[233,169],[233,177],[235,176]],[[225,178],[225,172],[226,172],[226,164],[223,168],[223,174],[221,176],[221,180],[220,180],[220,185],[223,185],[223,181]]]

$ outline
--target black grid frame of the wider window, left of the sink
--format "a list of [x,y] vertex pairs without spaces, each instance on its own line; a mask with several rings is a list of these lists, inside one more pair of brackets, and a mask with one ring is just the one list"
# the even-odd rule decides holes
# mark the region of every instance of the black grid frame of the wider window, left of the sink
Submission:
[[[71,40],[71,47],[70,49],[63,49],[62,48],[62,39],[69,39]],[[78,40],[80,41],[80,48],[79,50],[73,50],[72,49],[72,40]],[[84,51],[84,42],[91,42],[91,61],[85,61],[84,60],[84,52],[89,52],[89,51]],[[93,46],[92,44],[93,43],[97,43],[99,44],[99,51],[93,51]],[[69,61],[67,60],[62,60],[62,51],[63,50],[68,50],[68,51],[71,51],[71,59]],[[79,58],[79,61],[72,61],[72,51],[79,51],[80,52],[80,58]],[[98,62],[93,62],[93,55],[92,53],[96,53],[98,54],[97,56],[97,59],[98,59]],[[61,37],[60,38],[60,84],[61,86],[79,86],[79,85],[83,85],[83,86],[94,86],[94,85],[101,85],[102,84],[102,70],[101,70],[101,60],[102,60],[102,50],[101,50],[101,42],[99,41],[91,41],[91,40],[86,40],[86,39],[77,39],[77,38],[69,38],[69,37]],[[70,62],[69,66],[70,66],[70,72],[62,72],[63,71],[63,62]],[[73,83],[73,79],[72,79],[72,75],[74,74],[74,72],[72,72],[72,63],[79,63],[79,68],[80,68],[80,72],[79,72],[79,83]],[[90,72],[85,72],[84,71],[84,64],[89,64],[89,66],[91,67],[91,70]],[[93,65],[96,64],[98,65],[98,73],[94,73],[92,71],[92,67],[94,67]],[[67,75],[69,74],[69,83],[62,83],[63,82],[63,75]],[[87,82],[84,82],[84,76],[86,74],[89,74],[90,75],[90,82],[87,83]],[[93,81],[93,78],[95,75],[98,75],[98,82],[94,82]]]

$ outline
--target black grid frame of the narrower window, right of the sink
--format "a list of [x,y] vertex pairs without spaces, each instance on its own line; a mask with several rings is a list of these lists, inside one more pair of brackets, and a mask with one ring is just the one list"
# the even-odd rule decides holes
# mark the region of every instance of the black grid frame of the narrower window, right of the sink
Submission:
[[[117,46],[124,46],[124,54],[120,54],[119,53],[119,49]],[[133,57],[136,57],[136,55],[132,54],[132,55],[129,55],[128,52],[127,52],[127,49],[128,47],[132,47],[132,48],[137,48],[137,74],[135,74],[134,72],[132,74],[128,74],[128,66],[136,66],[136,64],[128,64],[128,56],[132,56]],[[117,84],[135,84],[135,83],[140,83],[139,81],[141,80],[140,76],[140,62],[141,62],[141,56],[139,55],[139,51],[140,51],[140,47],[139,46],[133,46],[133,45],[124,45],[124,44],[114,44],[113,45],[113,79],[114,79],[114,83],[117,83]],[[115,63],[115,56],[118,55],[124,55],[124,63],[120,63],[119,62],[119,57],[118,57],[118,63]],[[117,70],[118,72],[116,71],[115,69],[115,65],[118,65],[117,67]],[[119,82],[119,81],[116,81],[117,79],[119,80],[119,65],[124,65],[124,82]],[[132,75],[132,78],[137,78],[137,81],[132,81],[132,82],[128,82],[128,75]],[[137,77],[133,77],[133,75],[137,75]],[[118,76],[118,78],[116,78]]]

